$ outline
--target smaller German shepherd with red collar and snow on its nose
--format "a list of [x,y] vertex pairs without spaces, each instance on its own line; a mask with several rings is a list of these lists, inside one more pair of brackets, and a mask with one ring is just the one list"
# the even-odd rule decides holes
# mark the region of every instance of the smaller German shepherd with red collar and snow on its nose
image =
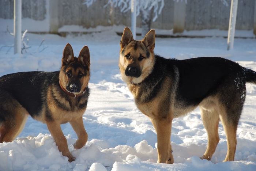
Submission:
[[89,97],[88,47],[84,46],[77,58],[68,43],[61,63],[56,72],[18,72],[0,77],[0,143],[13,141],[31,115],[46,123],[68,161],[75,160],[60,124],[71,124],[78,136],[74,147],[82,148],[88,139],[82,119]]

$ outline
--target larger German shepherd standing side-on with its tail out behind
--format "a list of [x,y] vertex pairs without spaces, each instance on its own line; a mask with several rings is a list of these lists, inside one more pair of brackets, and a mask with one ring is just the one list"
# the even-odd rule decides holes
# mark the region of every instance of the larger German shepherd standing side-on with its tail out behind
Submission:
[[246,95],[246,82],[256,84],[256,72],[219,57],[165,59],[154,54],[155,31],[133,40],[129,28],[120,42],[119,68],[136,106],[157,132],[158,163],[173,163],[170,135],[173,118],[199,106],[208,145],[201,159],[210,160],[219,142],[222,121],[227,137],[224,161],[234,160],[236,130]]

